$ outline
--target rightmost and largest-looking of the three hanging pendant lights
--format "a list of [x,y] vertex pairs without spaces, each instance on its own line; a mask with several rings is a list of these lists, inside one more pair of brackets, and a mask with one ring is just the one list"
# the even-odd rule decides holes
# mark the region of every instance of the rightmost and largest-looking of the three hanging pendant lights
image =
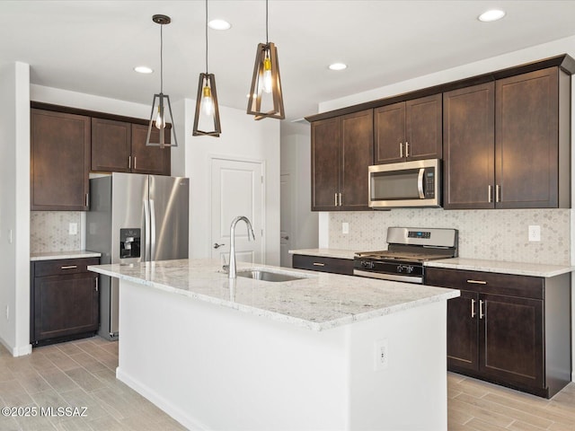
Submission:
[[268,39],[268,0],[266,0],[266,43],[255,53],[252,88],[247,113],[255,119],[285,119],[284,100],[279,79],[278,49]]

